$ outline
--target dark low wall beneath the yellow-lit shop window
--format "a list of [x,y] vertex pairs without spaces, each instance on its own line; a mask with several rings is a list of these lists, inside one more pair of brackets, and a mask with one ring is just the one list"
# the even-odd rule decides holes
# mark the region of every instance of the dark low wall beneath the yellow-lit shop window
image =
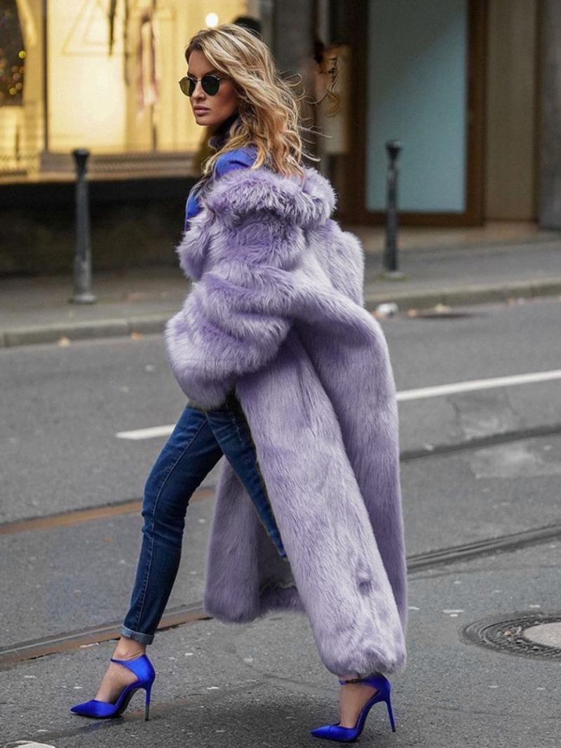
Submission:
[[[193,183],[192,179],[91,182],[93,269],[177,266],[174,250]],[[0,275],[72,272],[74,200],[72,183],[0,186]]]

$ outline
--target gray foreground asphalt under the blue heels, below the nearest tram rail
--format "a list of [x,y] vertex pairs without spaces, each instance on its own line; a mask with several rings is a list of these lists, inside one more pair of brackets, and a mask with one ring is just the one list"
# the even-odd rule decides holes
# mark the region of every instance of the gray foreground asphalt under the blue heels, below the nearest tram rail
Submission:
[[[374,706],[361,744],[378,748],[559,746],[559,659],[470,643],[466,625],[491,613],[557,610],[561,543],[436,566],[409,575],[408,664],[390,680],[396,732]],[[116,720],[70,713],[91,698],[113,642],[19,663],[1,673],[2,747],[319,746],[309,730],[337,721],[337,682],[319,660],[307,619],[248,625],[214,619],[161,631],[151,719],[137,693]],[[17,695],[16,697],[14,697]]]

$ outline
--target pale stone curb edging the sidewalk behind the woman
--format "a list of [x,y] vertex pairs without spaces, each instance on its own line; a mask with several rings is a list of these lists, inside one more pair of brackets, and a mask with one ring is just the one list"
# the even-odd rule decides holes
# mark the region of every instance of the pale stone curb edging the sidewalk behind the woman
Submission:
[[[373,312],[378,304],[395,301],[399,310],[426,309],[436,304],[447,306],[459,304],[485,304],[493,301],[508,301],[509,298],[536,298],[561,295],[561,278],[543,281],[503,283],[500,286],[472,285],[458,288],[442,288],[427,291],[399,291],[364,293],[364,307]],[[62,337],[68,340],[95,340],[104,337],[123,337],[134,333],[158,334],[164,331],[165,322],[174,310],[146,316],[123,317],[122,319],[96,319],[91,322],[56,322],[51,325],[31,325],[0,331],[0,348],[29,346],[35,343],[58,343]]]

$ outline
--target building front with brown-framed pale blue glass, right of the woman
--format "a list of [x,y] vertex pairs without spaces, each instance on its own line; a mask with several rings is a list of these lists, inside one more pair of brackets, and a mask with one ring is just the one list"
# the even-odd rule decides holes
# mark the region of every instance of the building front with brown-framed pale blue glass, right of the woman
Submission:
[[387,141],[401,221],[561,228],[561,4],[555,0],[319,3],[352,49],[349,221],[384,220]]

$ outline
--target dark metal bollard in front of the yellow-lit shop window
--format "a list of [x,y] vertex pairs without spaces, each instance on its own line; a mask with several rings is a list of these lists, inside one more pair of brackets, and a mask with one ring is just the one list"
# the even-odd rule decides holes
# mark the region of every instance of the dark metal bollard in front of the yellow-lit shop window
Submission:
[[90,152],[87,148],[76,148],[72,155],[76,161],[76,251],[74,295],[69,301],[75,304],[93,304],[96,297],[91,292],[90,206],[86,179],[86,162]]

